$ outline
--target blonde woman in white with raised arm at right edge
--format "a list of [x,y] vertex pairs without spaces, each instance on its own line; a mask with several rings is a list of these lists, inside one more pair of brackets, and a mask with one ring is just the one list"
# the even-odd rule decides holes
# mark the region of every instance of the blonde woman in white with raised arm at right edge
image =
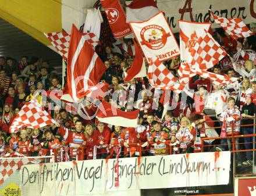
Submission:
[[[233,59],[232,59],[232,62],[233,62]],[[250,79],[250,81],[255,81],[256,69],[255,69],[255,66],[253,65],[253,60],[246,60],[246,62],[244,63],[244,66],[246,69],[244,69],[244,67],[241,67],[239,69],[236,63],[233,62],[234,70],[237,73],[243,76],[243,78],[247,77],[248,79]]]

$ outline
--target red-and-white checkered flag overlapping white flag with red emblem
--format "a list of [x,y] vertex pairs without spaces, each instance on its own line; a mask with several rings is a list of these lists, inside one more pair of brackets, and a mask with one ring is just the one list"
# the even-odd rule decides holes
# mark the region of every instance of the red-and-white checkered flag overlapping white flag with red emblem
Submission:
[[227,52],[214,40],[212,35],[204,31],[191,52],[189,64],[194,68],[207,70],[226,55]]

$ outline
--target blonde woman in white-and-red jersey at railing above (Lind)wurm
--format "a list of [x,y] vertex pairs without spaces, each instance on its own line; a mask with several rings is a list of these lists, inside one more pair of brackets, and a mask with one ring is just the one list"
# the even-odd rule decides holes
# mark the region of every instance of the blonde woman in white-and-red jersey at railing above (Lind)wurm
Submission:
[[187,117],[182,117],[180,125],[180,129],[176,133],[176,144],[180,148],[180,152],[191,153],[193,152],[192,146],[194,145],[197,132],[191,126],[190,120]]

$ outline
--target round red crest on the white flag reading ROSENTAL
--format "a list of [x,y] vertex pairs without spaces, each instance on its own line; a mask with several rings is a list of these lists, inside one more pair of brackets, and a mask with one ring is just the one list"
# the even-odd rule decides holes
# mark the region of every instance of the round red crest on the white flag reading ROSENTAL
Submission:
[[158,25],[148,25],[141,29],[141,45],[146,45],[150,49],[160,49],[165,46],[170,33]]

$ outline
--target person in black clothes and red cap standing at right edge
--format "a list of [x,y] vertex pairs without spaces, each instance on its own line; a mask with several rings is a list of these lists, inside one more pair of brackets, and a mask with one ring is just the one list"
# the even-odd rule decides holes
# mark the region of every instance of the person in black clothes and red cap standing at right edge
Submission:
[[[253,124],[253,119],[248,119],[250,117],[254,117],[255,114],[255,104],[252,102],[253,96],[252,94],[246,95],[246,104],[243,106],[241,110],[241,123],[246,124]],[[253,134],[253,126],[244,126],[241,128],[243,135]],[[244,147],[246,149],[253,149],[253,137],[244,137]],[[252,165],[253,164],[253,152],[246,152],[247,161],[244,161],[243,165]]]

